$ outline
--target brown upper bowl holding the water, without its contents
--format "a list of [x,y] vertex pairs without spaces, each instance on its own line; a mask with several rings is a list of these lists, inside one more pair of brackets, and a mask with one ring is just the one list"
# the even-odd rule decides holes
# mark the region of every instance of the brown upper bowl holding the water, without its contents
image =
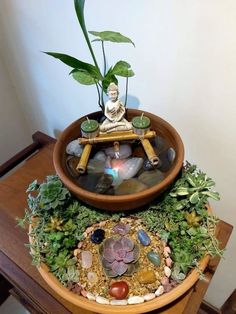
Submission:
[[[131,121],[133,117],[140,116],[142,112],[143,111],[140,110],[128,109],[127,119]],[[183,164],[183,142],[177,131],[168,122],[149,112],[144,112],[144,114],[151,120],[151,129],[156,131],[157,135],[164,137],[176,152],[174,162],[170,170],[166,173],[164,180],[144,191],[121,196],[97,194],[79,187],[76,184],[76,180],[70,176],[66,168],[66,146],[72,140],[81,137],[80,124],[84,121],[84,116],[73,122],[62,132],[55,145],[53,153],[54,167],[58,176],[65,186],[78,197],[78,199],[96,208],[111,211],[130,210],[149,203],[160,193],[166,190],[167,187],[174,181]],[[99,120],[102,113],[99,111],[91,113],[87,116],[90,119]]]

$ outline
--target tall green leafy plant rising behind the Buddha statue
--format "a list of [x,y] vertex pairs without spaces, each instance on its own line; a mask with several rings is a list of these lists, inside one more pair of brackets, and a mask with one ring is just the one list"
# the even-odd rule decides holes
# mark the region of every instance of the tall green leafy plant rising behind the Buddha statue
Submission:
[[[117,76],[126,78],[126,96],[125,106],[127,102],[127,91],[128,91],[128,78],[134,76],[134,72],[131,66],[126,61],[120,60],[113,67],[107,69],[107,60],[105,54],[105,42],[113,43],[130,43],[134,46],[134,43],[128,37],[113,31],[87,31],[85,18],[84,18],[84,4],[85,0],[74,0],[75,11],[77,18],[83,32],[85,41],[90,51],[91,57],[94,64],[86,63],[78,60],[66,54],[56,52],[45,52],[46,54],[57,58],[64,62],[66,65],[72,68],[70,74],[73,78],[83,85],[95,85],[98,93],[98,104],[104,111],[104,93],[107,91],[107,87],[111,82],[118,84]],[[89,35],[95,36],[96,38],[92,42],[100,42],[103,54],[103,71],[101,71],[96,56],[91,45]]]

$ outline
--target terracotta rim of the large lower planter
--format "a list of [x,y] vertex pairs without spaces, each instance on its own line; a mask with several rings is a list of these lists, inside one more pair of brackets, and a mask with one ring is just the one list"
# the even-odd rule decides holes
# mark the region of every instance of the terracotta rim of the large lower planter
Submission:
[[[210,206],[207,206],[209,214],[212,214],[212,209]],[[32,225],[29,226],[29,234],[32,231]],[[29,242],[32,243],[33,239],[29,236]],[[31,249],[32,250],[32,249]],[[32,250],[33,251],[33,250]],[[72,304],[82,307],[89,311],[94,311],[102,314],[138,314],[146,313],[149,311],[157,310],[165,305],[170,304],[184,293],[186,293],[199,279],[199,271],[204,271],[208,262],[210,260],[210,255],[206,254],[198,263],[199,269],[193,269],[190,271],[188,276],[181,282],[177,287],[173,288],[170,292],[164,293],[161,296],[156,297],[153,300],[145,301],[141,304],[135,305],[103,305],[99,304],[96,301],[88,300],[83,296],[78,296],[75,293],[69,291],[64,287],[60,281],[50,272],[48,266],[44,263],[41,263],[37,267],[39,273],[47,284],[56,291],[62,298],[71,302]]]

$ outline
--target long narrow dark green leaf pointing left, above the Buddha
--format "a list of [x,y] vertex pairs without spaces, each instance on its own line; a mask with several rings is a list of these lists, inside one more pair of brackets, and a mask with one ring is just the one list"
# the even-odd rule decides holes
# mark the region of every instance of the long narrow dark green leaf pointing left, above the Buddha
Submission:
[[98,69],[89,63],[80,61],[74,57],[71,57],[69,55],[63,54],[63,53],[57,53],[57,52],[45,52],[46,54],[48,54],[49,56],[52,56],[56,59],[61,60],[63,63],[65,63],[66,65],[78,69],[78,70],[84,70],[86,72],[88,72],[89,74],[91,74],[91,76],[97,80],[102,80],[102,75],[101,73],[98,71]]

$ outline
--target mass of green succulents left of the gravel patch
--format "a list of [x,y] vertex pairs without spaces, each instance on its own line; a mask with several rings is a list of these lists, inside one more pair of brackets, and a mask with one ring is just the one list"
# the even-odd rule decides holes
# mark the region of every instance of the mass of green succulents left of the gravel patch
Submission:
[[58,176],[48,176],[43,183],[32,182],[27,192],[29,209],[18,225],[31,224],[27,246],[32,263],[48,265],[63,283],[79,278],[74,249],[83,240],[86,228],[106,219],[118,220],[121,214],[102,213],[78,202],[65,188]]

